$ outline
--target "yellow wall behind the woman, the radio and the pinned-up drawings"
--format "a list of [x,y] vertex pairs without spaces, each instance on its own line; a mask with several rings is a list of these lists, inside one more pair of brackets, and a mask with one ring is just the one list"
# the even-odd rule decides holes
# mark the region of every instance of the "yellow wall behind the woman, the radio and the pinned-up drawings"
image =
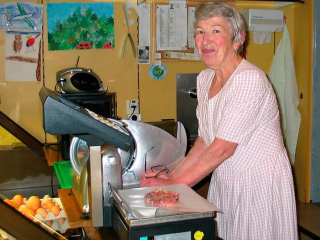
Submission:
[[[8,0],[2,0],[5,2]],[[136,2],[132,0],[133,2]],[[293,3],[282,7],[287,18],[287,27],[291,36],[291,44],[294,51],[296,65],[296,75],[298,90],[303,98],[300,99],[299,110],[301,112],[301,130],[298,138],[296,150],[296,162],[294,164],[294,174],[296,186],[299,188],[298,198],[307,198],[307,171],[308,171],[308,139],[309,132],[309,69],[308,69],[308,16],[309,1],[305,3]],[[34,0],[40,3],[39,0]],[[48,2],[58,2],[50,0]],[[79,1],[78,1],[79,2]],[[88,2],[88,1],[85,1]],[[93,2],[93,1],[92,1]],[[56,137],[50,134],[44,134],[42,128],[42,108],[38,97],[38,92],[43,85],[54,89],[56,78],[55,73],[66,67],[74,66],[77,56],[80,56],[78,66],[92,68],[108,85],[110,91],[115,91],[117,95],[117,115],[126,118],[125,101],[131,98],[139,98],[140,113],[142,121],[158,121],[165,118],[176,118],[176,73],[194,73],[204,68],[201,62],[168,62],[162,61],[168,69],[167,74],[160,80],[152,79],[148,74],[148,68],[153,63],[153,54],[150,52],[150,64],[137,64],[137,59],[133,56],[130,44],[126,44],[126,50],[123,58],[120,58],[122,41],[127,28],[123,24],[124,13],[122,4],[124,0],[113,0],[114,3],[114,22],[115,22],[115,47],[114,49],[92,49],[92,50],[60,50],[48,51],[46,40],[46,8],[44,12],[44,81],[41,82],[6,82],[5,81],[5,31],[0,30],[0,110],[12,118],[26,131],[31,133],[41,142],[55,142]],[[152,0],[145,2],[152,3]],[[244,8],[274,8],[273,1],[251,1],[237,0],[230,1],[241,11]],[[44,0],[44,3],[46,1]],[[153,12],[153,4],[150,4]],[[132,9],[133,19],[136,19],[136,13]],[[151,14],[151,19],[152,19]],[[300,20],[300,19],[303,20]],[[152,27],[152,24],[151,24]],[[133,40],[137,42],[137,25],[129,26],[129,31]],[[272,33],[271,43],[263,45],[252,42],[252,32],[248,33],[246,42],[246,57],[252,63],[258,65],[268,73],[276,46],[282,36],[281,32]],[[151,38],[152,39],[152,38]],[[152,49],[152,46],[150,46]],[[0,130],[1,139],[5,130]],[[8,138],[10,139],[10,138]],[[8,140],[10,141],[10,140]],[[0,142],[0,144],[11,144],[9,142]]]

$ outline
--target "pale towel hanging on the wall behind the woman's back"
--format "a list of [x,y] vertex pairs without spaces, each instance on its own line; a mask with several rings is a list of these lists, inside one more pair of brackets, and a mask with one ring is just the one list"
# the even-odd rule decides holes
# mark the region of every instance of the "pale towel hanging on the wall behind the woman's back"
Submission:
[[292,47],[285,23],[283,23],[282,38],[275,50],[268,79],[277,97],[284,144],[293,165],[301,116],[297,109],[299,97]]

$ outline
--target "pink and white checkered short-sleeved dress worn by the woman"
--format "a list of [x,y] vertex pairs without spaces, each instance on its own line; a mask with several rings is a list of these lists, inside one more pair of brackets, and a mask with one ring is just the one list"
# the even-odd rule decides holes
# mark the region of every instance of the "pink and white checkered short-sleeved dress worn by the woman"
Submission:
[[279,112],[265,73],[243,59],[208,99],[214,70],[197,77],[198,134],[238,143],[212,173],[207,199],[222,239],[298,239],[291,166],[283,146]]

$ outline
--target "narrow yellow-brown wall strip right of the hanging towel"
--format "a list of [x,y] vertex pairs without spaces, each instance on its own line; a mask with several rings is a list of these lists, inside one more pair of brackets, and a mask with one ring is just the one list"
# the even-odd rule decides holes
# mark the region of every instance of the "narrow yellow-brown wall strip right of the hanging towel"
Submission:
[[[292,9],[294,28],[290,34],[292,42],[298,92],[302,94],[298,109],[301,113],[301,124],[298,135],[293,174],[295,176],[296,194],[300,201],[309,202],[310,185],[310,138],[311,138],[311,65],[312,65],[312,0],[297,4]],[[301,19],[304,19],[301,21]],[[292,40],[291,40],[292,41]],[[302,98],[301,98],[302,97]]]

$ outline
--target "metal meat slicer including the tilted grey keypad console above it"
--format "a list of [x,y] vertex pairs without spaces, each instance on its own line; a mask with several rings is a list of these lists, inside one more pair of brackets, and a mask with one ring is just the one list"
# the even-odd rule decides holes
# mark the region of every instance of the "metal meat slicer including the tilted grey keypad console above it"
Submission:
[[44,130],[74,135],[72,192],[93,227],[111,226],[109,183],[116,189],[138,187],[145,169],[165,165],[170,172],[184,157],[186,133],[179,122],[174,137],[149,123],[102,117],[44,86],[39,96]]

